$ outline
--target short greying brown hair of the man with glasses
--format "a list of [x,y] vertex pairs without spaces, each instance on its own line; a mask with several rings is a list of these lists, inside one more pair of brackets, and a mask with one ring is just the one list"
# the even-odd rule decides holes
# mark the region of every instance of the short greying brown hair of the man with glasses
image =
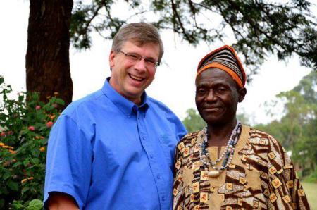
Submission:
[[159,63],[164,53],[163,42],[158,30],[154,25],[149,23],[130,23],[121,27],[120,30],[113,37],[112,51],[120,51],[124,42],[132,41],[139,44],[154,43],[158,44],[160,47]]

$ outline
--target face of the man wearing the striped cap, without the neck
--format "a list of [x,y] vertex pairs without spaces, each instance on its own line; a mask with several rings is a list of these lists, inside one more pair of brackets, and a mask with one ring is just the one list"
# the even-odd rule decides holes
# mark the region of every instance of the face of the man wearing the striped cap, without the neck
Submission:
[[196,106],[208,125],[225,125],[235,119],[237,104],[246,90],[237,89],[228,73],[218,68],[204,70],[196,79]]

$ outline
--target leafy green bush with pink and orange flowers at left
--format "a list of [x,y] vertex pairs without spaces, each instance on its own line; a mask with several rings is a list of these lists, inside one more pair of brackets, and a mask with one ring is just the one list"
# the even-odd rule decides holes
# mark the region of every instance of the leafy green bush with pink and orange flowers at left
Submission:
[[0,209],[42,209],[47,140],[64,103],[11,92],[0,76]]

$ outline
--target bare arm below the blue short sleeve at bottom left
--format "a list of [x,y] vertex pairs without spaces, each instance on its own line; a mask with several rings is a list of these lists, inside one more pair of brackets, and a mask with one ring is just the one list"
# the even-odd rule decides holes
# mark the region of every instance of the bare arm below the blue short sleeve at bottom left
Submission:
[[47,201],[49,210],[78,210],[73,197],[61,192],[51,192]]

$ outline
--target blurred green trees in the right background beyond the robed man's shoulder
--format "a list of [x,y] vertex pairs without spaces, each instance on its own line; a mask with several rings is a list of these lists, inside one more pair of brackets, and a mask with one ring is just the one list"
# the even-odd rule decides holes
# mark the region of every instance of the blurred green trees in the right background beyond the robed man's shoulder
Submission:
[[270,133],[292,151],[292,161],[301,168],[302,176],[316,173],[317,72],[312,71],[297,87],[281,92],[277,97],[285,102],[284,116],[280,121],[258,125],[257,128]]

